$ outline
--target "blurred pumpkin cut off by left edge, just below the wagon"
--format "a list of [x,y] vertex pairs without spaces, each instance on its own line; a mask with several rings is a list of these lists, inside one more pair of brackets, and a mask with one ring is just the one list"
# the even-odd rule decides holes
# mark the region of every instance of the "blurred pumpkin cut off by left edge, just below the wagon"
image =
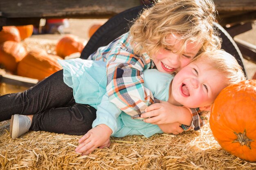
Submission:
[[20,32],[16,26],[3,26],[0,31],[0,44],[5,41],[20,42]]

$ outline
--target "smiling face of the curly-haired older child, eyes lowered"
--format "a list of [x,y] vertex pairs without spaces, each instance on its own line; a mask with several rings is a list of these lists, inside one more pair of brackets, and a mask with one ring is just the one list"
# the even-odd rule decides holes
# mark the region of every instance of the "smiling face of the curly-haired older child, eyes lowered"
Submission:
[[191,42],[186,44],[183,53],[176,53],[182,47],[181,40],[170,35],[166,42],[170,44],[170,48],[160,49],[159,53],[154,56],[153,62],[158,71],[169,74],[178,72],[181,68],[189,64],[202,47],[202,44]]

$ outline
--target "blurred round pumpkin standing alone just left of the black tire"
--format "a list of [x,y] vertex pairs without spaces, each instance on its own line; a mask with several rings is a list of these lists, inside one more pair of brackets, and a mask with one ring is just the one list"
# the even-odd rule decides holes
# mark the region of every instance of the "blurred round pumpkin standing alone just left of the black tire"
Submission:
[[78,37],[74,35],[65,35],[58,41],[56,45],[56,53],[58,56],[65,58],[65,56],[73,53],[81,53],[84,46],[85,42],[79,40]]

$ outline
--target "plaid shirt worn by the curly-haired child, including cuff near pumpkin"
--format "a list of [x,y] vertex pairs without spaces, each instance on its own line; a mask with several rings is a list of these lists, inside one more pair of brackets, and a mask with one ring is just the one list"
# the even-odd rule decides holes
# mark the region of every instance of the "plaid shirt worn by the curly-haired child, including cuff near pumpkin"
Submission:
[[[153,60],[144,53],[136,56],[130,44],[129,32],[121,35],[107,46],[100,47],[88,60],[107,62],[107,93],[110,102],[132,117],[138,117],[145,108],[159,102],[152,93],[144,87],[142,71],[155,66]],[[191,109],[193,122],[184,130],[199,130],[203,124],[200,116]]]

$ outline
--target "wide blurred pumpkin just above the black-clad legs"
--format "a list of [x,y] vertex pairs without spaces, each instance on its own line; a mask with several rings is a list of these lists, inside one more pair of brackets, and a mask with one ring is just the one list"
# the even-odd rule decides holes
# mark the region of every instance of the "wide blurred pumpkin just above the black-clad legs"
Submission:
[[43,50],[31,50],[18,63],[17,75],[42,80],[62,69],[58,59],[62,60],[61,57],[48,54]]

